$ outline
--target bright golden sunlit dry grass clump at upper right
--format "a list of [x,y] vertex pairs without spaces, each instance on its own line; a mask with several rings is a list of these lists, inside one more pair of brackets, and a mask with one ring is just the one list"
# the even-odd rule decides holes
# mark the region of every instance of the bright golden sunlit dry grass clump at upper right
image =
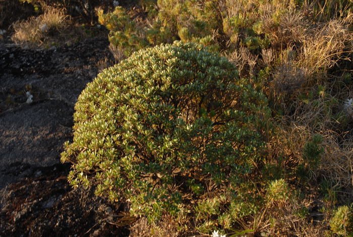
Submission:
[[[350,61],[353,52],[353,32],[349,30],[353,15],[315,25],[308,24],[298,13],[288,11],[286,15],[284,19],[294,20],[282,19],[278,31],[272,32],[281,39],[278,45],[283,49],[273,49],[276,63],[266,88],[268,96],[279,104],[288,104],[315,84],[330,86],[328,70]],[[270,61],[266,57],[263,53],[264,62]]]

